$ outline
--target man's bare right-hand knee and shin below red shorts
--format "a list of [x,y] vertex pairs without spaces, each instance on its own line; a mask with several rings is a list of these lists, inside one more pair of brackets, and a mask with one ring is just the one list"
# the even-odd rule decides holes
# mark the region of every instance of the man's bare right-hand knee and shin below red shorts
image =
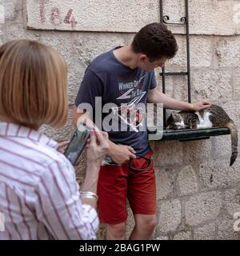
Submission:
[[149,240],[152,239],[154,228],[157,225],[157,216],[155,214],[135,214],[135,226],[130,240]]

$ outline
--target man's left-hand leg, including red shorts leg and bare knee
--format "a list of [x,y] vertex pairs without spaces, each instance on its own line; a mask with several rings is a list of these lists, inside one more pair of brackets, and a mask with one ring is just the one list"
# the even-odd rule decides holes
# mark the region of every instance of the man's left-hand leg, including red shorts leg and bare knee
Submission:
[[98,179],[98,215],[106,224],[107,240],[126,239],[127,168],[101,166]]

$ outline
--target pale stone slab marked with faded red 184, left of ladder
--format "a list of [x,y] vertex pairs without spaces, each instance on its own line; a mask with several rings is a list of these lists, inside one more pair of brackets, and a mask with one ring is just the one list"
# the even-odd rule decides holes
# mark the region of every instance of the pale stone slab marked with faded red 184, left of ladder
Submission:
[[[27,26],[40,30],[137,32],[159,21],[158,1],[26,0]],[[141,14],[141,15],[139,15]]]

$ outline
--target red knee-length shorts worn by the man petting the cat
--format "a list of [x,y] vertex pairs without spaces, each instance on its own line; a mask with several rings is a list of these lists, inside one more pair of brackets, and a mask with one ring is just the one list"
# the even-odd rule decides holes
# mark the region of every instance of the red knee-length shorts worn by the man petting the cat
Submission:
[[[146,154],[151,158],[153,151]],[[134,160],[141,168],[142,158]],[[156,214],[156,183],[154,167],[132,172],[129,162],[122,166],[101,166],[98,179],[98,214],[101,223],[119,224],[126,221],[126,198],[134,214]]]

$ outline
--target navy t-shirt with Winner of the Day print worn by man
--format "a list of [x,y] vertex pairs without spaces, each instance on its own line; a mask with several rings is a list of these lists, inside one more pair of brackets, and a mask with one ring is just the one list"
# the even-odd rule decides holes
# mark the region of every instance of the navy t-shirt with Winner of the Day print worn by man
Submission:
[[114,131],[115,128],[109,131],[104,125],[102,130],[108,132],[112,142],[132,146],[136,154],[144,155],[150,152],[150,145],[147,139],[146,113],[140,105],[146,104],[148,91],[156,86],[154,70],[132,70],[119,62],[113,50],[110,50],[99,55],[87,67],[75,105],[90,103],[94,118],[98,118],[96,97],[102,97],[102,106],[114,103],[116,107],[111,108],[110,113],[102,113],[102,120],[107,119],[107,123],[116,127],[113,122],[118,119],[118,128],[122,127],[124,131]]

